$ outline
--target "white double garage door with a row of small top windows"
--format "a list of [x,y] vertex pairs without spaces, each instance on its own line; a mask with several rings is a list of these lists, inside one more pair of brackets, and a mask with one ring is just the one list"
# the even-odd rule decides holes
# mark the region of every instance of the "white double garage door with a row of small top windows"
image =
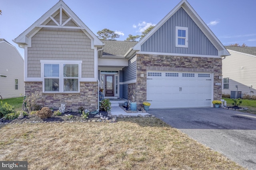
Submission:
[[211,73],[147,72],[150,108],[211,107]]

